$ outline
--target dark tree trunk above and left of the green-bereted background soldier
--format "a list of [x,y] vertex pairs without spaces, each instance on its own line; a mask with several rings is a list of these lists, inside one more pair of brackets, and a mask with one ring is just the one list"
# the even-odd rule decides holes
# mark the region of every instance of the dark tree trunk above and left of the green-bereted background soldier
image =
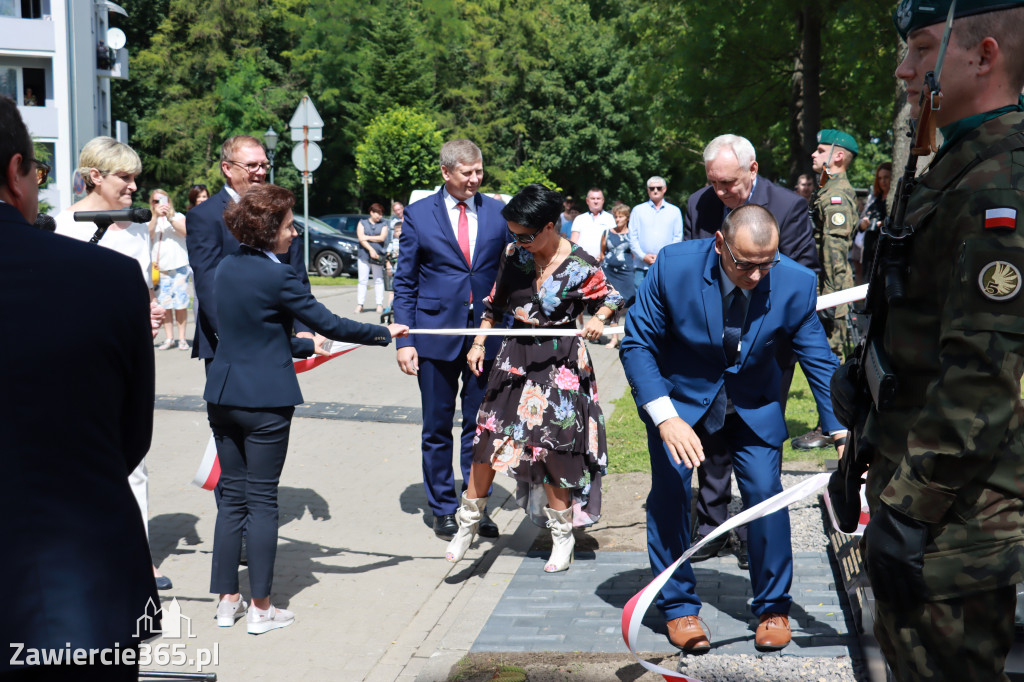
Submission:
[[798,12],[800,53],[793,74],[790,117],[790,182],[811,172],[811,153],[821,127],[821,25],[819,2],[805,2]]

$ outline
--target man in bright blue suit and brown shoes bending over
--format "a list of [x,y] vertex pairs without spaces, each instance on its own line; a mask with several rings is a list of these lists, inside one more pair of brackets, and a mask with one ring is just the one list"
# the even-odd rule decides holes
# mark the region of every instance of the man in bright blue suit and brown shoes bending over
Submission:
[[[647,544],[655,574],[689,547],[690,477],[706,457],[732,458],[746,508],[782,492],[786,430],[775,344],[792,343],[822,425],[845,435],[828,394],[838,361],[814,310],[816,283],[812,270],[778,253],[771,212],[748,204],[729,213],[715,239],[666,247],[637,292],[621,353],[647,427]],[[841,456],[844,441],[837,441]],[[791,640],[788,513],[752,521],[748,542],[751,606],[760,620],[755,645],[780,649]],[[689,562],[666,584],[657,605],[672,644],[689,653],[711,648]]]

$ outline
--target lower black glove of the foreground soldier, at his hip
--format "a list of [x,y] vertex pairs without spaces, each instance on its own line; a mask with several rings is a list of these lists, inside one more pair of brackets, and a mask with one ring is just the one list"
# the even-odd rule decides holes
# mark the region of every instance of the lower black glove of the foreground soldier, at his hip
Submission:
[[865,564],[874,597],[906,611],[928,598],[925,545],[928,526],[889,505],[880,505],[864,528]]

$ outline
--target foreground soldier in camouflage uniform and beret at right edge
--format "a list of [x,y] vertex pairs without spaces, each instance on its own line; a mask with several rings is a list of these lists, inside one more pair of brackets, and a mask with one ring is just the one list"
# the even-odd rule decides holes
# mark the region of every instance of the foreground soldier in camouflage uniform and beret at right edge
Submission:
[[[903,0],[896,71],[916,108],[949,0]],[[1024,2],[961,0],[919,178],[906,299],[884,345],[894,407],[863,441],[874,634],[896,679],[1007,680],[1024,579]]]

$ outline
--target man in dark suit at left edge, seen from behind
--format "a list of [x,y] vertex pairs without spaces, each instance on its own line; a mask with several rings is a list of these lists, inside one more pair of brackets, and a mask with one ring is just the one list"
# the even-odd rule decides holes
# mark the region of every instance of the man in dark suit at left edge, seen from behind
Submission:
[[[150,293],[138,263],[30,224],[48,169],[12,100],[0,96],[0,641],[4,680],[138,679],[138,665],[37,665],[71,649],[124,653],[159,632],[150,547],[128,474],[150,449],[154,361]],[[75,272],[102,301],[68,305]],[[69,352],[60,321],[82,332]],[[17,647],[22,647],[16,650]],[[134,653],[134,652],[133,652]],[[119,655],[119,662],[124,657]]]

